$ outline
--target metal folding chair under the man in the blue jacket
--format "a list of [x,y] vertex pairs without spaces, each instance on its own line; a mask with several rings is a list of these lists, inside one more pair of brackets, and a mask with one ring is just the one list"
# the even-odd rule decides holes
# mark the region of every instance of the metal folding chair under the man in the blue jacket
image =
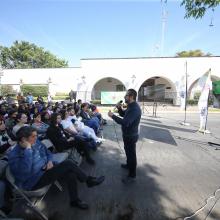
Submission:
[[[27,206],[30,207],[41,219],[48,220],[47,216],[37,208],[37,204],[44,199],[52,184],[34,191],[23,190],[15,185],[15,179],[10,171],[9,166],[6,167],[6,179],[12,186],[12,192],[15,200],[24,199]],[[62,187],[57,181],[54,184],[60,191],[62,191]]]

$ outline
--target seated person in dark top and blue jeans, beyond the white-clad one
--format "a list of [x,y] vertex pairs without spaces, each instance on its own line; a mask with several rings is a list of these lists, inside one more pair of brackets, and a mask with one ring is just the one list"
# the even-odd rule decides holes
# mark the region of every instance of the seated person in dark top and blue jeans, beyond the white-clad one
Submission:
[[89,104],[83,103],[81,105],[81,111],[80,111],[80,116],[82,117],[82,121],[85,123],[85,125],[92,128],[96,134],[98,134],[100,128],[99,119],[97,117],[91,118],[88,112],[89,112]]

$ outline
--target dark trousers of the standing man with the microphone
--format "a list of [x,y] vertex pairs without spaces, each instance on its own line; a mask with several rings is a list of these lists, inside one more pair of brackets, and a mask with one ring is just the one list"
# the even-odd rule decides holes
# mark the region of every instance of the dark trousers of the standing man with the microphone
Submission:
[[127,157],[127,165],[130,177],[136,177],[137,157],[136,157],[136,143],[138,135],[123,136],[124,149]]

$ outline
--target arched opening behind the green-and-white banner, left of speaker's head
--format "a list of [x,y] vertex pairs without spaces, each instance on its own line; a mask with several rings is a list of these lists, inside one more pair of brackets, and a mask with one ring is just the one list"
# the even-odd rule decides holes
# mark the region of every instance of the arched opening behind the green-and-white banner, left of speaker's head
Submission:
[[122,92],[125,85],[118,79],[106,77],[95,83],[92,89],[92,100],[101,100],[101,92]]

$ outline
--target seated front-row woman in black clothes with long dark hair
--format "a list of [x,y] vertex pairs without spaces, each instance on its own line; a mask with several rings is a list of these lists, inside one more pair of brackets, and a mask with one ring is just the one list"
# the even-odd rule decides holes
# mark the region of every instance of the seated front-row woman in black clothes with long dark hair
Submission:
[[47,129],[47,137],[51,140],[58,152],[76,147],[80,154],[84,154],[86,161],[90,164],[94,164],[95,161],[90,157],[89,150],[86,146],[87,143],[78,138],[68,135],[61,125],[61,115],[59,113],[53,113],[51,115],[51,124]]

